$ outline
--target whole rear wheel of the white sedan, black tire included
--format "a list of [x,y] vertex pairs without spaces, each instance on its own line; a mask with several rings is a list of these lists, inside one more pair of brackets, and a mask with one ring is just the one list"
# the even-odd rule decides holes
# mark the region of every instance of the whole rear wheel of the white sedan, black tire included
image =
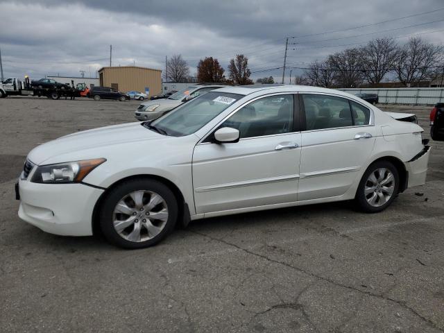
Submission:
[[364,212],[382,212],[398,195],[399,184],[398,169],[391,162],[374,162],[359,182],[355,202]]

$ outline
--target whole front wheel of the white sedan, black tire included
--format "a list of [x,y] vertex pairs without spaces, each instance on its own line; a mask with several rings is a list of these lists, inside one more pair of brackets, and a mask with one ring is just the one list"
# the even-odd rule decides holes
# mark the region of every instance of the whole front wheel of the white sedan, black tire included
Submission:
[[[127,180],[106,194],[100,212],[101,230],[111,244],[146,248],[159,243],[173,230],[178,203],[162,182],[148,178]],[[160,219],[148,217],[154,215]]]

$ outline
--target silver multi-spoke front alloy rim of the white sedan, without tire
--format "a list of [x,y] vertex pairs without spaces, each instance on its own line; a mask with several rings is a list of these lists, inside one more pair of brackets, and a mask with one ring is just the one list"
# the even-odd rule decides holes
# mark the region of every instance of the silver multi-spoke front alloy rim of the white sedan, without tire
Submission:
[[133,191],[123,196],[112,214],[114,230],[127,241],[153,239],[167,225],[168,206],[164,198],[153,191]]

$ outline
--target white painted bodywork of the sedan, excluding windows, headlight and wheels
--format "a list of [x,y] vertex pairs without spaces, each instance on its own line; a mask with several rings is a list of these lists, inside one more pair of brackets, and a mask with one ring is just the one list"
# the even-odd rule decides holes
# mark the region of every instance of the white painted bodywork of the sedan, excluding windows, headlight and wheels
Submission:
[[[156,176],[173,183],[187,203],[191,219],[352,199],[362,175],[380,157],[403,162],[409,186],[425,182],[429,152],[409,162],[423,149],[422,128],[397,121],[356,96],[297,85],[216,91],[246,96],[191,135],[164,136],[137,122],[74,133],[37,146],[28,155],[37,165],[100,157],[106,162],[86,176],[85,184],[35,184],[31,177],[20,180],[19,216],[48,232],[91,234],[96,201],[114,183],[132,176]],[[203,142],[221,121],[257,97],[305,92],[356,101],[371,110],[371,123],[252,137],[232,144]],[[371,137],[355,139],[359,133]],[[288,142],[297,147],[275,150]]]

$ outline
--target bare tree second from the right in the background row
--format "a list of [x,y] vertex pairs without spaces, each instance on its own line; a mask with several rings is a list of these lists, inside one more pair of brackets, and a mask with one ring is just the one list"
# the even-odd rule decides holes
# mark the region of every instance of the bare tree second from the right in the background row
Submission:
[[393,69],[400,54],[398,44],[391,38],[370,40],[361,49],[361,68],[368,83],[379,83]]

